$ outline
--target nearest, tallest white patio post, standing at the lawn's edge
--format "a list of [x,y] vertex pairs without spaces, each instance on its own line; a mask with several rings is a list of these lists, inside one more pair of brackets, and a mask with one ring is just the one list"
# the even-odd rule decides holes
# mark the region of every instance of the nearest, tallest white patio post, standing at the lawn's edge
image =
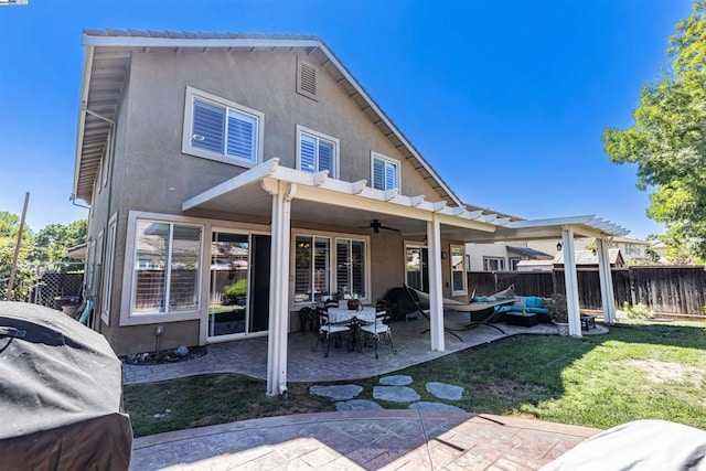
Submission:
[[[272,185],[275,186],[275,185]],[[287,333],[289,331],[289,233],[291,199],[296,185],[277,182],[272,189],[269,272],[269,330],[267,339],[267,395],[287,394]]]

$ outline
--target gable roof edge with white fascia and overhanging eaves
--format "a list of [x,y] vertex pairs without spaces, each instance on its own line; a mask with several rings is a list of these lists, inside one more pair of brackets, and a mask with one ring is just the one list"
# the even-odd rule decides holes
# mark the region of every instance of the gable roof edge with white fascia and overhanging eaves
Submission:
[[249,51],[291,51],[303,49],[308,61],[325,69],[349,97],[389,139],[413,168],[439,196],[453,206],[464,206],[434,171],[392,119],[382,110],[350,71],[318,36],[296,34],[250,34],[152,30],[85,29],[86,47],[81,113],[76,144],[74,197],[90,202],[93,184],[108,147],[132,52],[200,52],[244,49]]

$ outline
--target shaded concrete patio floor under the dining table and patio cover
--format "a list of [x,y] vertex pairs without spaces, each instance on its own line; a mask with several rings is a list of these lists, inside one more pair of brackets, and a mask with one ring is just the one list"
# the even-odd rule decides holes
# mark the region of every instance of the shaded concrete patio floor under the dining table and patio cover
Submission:
[[[460,325],[463,322],[468,322],[468,314],[447,315],[447,325]],[[398,353],[393,355],[389,346],[381,342],[378,346],[379,360],[375,360],[375,352],[372,347],[364,347],[360,353],[349,353],[345,349],[335,349],[333,345],[331,346],[331,355],[327,358],[323,356],[325,344],[320,344],[315,353],[311,352],[311,347],[317,341],[314,332],[290,333],[287,379],[297,383],[366,378],[490,343],[507,335],[556,333],[556,327],[553,324],[538,324],[533,328],[498,325],[505,331],[505,334],[489,325],[481,325],[471,330],[454,331],[463,339],[461,342],[447,333],[446,352],[435,352],[430,349],[429,333],[421,333],[428,329],[428,321],[394,322],[391,327],[393,341]],[[596,329],[584,331],[584,334],[606,332],[608,330],[599,324]],[[169,335],[169,332],[163,335]],[[151,383],[208,373],[239,373],[265,379],[267,377],[267,338],[211,344],[206,355],[182,363],[149,366],[126,364],[122,366],[124,384]]]

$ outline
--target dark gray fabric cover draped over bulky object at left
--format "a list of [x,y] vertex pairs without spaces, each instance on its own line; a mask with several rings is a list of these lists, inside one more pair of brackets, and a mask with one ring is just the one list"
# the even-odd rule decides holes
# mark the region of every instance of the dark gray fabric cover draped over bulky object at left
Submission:
[[121,363],[60,311],[0,302],[0,469],[127,470]]

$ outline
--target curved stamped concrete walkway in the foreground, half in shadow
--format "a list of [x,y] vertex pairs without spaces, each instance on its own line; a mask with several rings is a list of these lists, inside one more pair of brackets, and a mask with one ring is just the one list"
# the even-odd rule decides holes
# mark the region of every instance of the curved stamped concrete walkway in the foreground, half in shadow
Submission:
[[537,470],[600,430],[421,410],[304,414],[135,440],[133,470]]

